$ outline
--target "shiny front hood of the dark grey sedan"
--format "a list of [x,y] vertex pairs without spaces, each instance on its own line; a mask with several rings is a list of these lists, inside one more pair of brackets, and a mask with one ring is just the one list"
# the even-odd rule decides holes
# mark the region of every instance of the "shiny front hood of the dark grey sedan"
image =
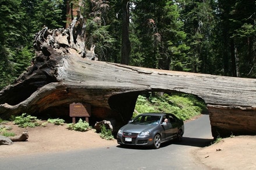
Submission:
[[120,128],[123,132],[140,133],[142,131],[152,131],[157,125],[133,125],[127,124]]

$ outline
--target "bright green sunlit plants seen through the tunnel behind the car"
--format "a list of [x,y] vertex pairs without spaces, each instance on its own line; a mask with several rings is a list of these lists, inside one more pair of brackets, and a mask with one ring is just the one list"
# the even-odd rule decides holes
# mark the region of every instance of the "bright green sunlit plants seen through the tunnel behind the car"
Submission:
[[152,92],[150,96],[138,96],[135,110],[137,113],[134,113],[133,117],[138,113],[166,112],[173,113],[182,120],[189,120],[195,115],[206,113],[207,107],[204,100],[191,94],[173,93],[168,95],[164,93],[158,95]]

